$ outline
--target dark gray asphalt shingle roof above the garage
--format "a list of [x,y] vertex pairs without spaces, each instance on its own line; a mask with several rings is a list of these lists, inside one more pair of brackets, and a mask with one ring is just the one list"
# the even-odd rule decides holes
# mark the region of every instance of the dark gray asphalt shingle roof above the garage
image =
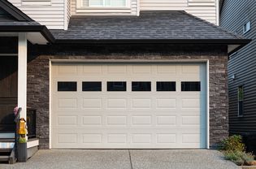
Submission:
[[141,11],[140,16],[72,16],[56,40],[243,39],[184,11]]

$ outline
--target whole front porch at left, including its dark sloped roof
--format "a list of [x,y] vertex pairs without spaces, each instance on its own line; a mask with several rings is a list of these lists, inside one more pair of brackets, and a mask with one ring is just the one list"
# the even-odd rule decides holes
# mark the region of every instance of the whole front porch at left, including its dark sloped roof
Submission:
[[[27,106],[28,44],[46,45],[54,41],[54,37],[46,26],[38,24],[10,2],[0,2],[0,5],[0,161],[15,163],[18,140],[14,119],[27,121],[28,157],[39,145],[36,110]],[[15,106],[20,108],[16,116]]]

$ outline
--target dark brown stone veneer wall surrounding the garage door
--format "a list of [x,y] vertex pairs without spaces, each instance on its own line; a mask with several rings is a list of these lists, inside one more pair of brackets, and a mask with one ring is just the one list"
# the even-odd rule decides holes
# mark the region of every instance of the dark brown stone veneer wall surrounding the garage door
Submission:
[[31,45],[28,106],[37,109],[40,149],[49,149],[50,59],[209,59],[210,147],[228,137],[228,54],[226,45]]

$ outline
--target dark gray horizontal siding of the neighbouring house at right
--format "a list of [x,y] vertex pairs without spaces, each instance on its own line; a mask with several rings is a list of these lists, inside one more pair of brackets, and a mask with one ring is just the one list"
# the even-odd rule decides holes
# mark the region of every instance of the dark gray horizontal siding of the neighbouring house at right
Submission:
[[[229,125],[231,133],[256,132],[256,2],[225,0],[220,25],[253,41],[233,54],[228,62]],[[251,22],[243,34],[243,24]],[[232,80],[231,76],[236,75]],[[244,116],[237,117],[237,87],[244,85]]]

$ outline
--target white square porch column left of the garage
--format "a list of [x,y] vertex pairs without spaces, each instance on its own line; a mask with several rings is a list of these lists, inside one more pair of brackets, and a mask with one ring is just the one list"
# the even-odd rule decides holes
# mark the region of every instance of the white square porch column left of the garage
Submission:
[[19,32],[18,42],[18,107],[20,117],[27,120],[27,33]]

